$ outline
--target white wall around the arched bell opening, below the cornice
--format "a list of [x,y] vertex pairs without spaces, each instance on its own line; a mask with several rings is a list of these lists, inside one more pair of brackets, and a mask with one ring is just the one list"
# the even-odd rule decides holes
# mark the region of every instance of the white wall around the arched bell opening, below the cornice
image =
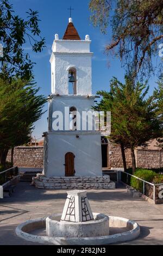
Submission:
[[92,94],[91,55],[57,54],[52,62],[52,93],[68,94],[68,71],[77,69],[77,94]]

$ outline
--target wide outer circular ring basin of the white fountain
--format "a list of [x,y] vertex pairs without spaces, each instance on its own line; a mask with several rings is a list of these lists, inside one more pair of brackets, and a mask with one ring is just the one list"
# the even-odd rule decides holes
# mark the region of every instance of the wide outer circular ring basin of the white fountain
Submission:
[[[99,214],[93,213],[93,216],[95,215]],[[49,220],[59,222],[61,214],[54,214],[52,216]],[[37,218],[18,225],[16,234],[27,241],[47,245],[109,245],[110,243],[134,240],[140,235],[140,226],[135,221],[114,216],[108,216],[108,218],[107,228],[108,231],[110,228],[110,235],[65,237],[54,234],[54,236],[47,236],[46,233],[42,233],[42,230],[46,229],[47,218]],[[111,232],[111,230],[116,230],[116,232]]]

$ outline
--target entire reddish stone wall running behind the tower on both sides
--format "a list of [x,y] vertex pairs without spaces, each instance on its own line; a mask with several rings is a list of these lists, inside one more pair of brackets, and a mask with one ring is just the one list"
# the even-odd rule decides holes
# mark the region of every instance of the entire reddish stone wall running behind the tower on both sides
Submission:
[[[121,148],[109,143],[109,169],[123,168]],[[130,150],[125,150],[127,167],[131,167]],[[137,167],[160,168],[163,167],[163,150],[135,150]],[[9,151],[7,161],[11,161]],[[43,167],[43,147],[16,147],[14,149],[14,166]]]

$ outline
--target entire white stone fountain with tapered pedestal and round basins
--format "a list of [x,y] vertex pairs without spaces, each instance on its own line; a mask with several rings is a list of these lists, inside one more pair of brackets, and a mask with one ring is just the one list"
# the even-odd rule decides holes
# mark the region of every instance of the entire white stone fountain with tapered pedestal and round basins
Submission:
[[[109,234],[109,226],[117,232]],[[140,227],[126,218],[92,213],[86,191],[72,190],[67,192],[62,214],[24,222],[18,225],[16,234],[42,244],[107,245],[135,239]]]

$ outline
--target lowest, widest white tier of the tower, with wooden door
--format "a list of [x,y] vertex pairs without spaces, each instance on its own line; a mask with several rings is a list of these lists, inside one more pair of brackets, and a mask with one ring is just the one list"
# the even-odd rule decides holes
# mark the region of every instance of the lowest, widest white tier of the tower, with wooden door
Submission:
[[44,143],[43,175],[47,178],[102,176],[100,132],[46,132]]

